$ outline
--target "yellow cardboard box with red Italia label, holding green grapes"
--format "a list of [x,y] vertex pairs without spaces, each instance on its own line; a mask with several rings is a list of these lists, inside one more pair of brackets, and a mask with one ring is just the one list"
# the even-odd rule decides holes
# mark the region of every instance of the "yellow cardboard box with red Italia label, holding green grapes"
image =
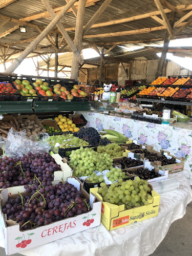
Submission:
[[[152,188],[151,185],[149,185]],[[158,215],[160,195],[152,190],[152,199],[148,200],[148,205],[138,206],[129,210],[125,210],[123,205],[115,205],[103,202],[103,198],[98,194],[98,187],[90,188],[93,193],[102,201],[101,222],[108,230],[114,230],[134,223],[135,221],[143,221]]]

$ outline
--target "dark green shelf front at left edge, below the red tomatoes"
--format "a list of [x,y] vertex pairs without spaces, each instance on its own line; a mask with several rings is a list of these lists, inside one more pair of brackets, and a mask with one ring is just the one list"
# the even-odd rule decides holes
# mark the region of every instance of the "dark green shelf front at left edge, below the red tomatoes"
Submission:
[[32,101],[0,101],[0,113],[33,112]]

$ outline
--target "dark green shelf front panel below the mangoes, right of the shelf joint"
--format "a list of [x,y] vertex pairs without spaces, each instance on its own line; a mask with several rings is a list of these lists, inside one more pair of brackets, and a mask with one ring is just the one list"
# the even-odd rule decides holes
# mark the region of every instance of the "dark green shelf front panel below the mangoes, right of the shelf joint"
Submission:
[[90,110],[88,101],[34,101],[33,107],[35,113]]

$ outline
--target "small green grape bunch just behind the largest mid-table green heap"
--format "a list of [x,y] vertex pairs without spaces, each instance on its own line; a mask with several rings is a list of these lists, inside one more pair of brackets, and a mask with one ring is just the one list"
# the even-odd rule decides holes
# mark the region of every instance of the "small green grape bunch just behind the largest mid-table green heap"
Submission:
[[98,153],[107,153],[111,157],[121,157],[123,155],[123,150],[121,150],[121,146],[117,143],[110,143],[106,146],[98,146],[97,147]]

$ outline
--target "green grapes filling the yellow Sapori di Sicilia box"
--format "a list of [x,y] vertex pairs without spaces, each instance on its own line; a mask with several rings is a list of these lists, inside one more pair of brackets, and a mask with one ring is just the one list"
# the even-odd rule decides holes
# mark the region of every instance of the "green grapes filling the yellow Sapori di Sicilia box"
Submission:
[[152,199],[151,188],[148,186],[148,181],[141,180],[139,177],[133,180],[118,182],[106,186],[104,182],[100,184],[98,193],[103,197],[104,202],[125,205],[126,209],[133,207],[148,205],[148,200]]

